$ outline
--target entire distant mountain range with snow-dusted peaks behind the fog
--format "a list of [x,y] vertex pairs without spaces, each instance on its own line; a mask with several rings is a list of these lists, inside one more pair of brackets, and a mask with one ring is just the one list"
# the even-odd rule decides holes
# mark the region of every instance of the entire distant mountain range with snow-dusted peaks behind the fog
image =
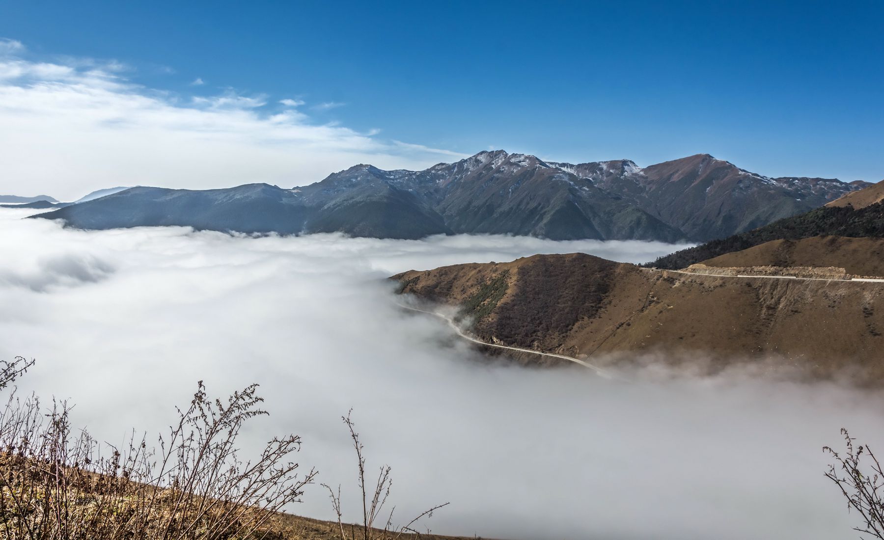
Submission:
[[865,183],[770,179],[707,154],[640,168],[484,151],[423,171],[359,164],[309,186],[204,191],[137,187],[39,217],[108,229],[187,225],[237,232],[345,232],[416,239],[500,233],[552,240],[709,240],[817,208]]

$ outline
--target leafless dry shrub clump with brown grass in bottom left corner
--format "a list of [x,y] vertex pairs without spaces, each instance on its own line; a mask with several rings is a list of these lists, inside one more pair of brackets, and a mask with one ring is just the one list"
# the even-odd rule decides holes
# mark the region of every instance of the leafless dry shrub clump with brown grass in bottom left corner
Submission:
[[[0,363],[0,389],[33,361]],[[316,472],[291,461],[299,437],[275,437],[252,460],[236,445],[245,422],[267,415],[252,384],[226,401],[202,382],[152,448],[134,433],[117,448],[74,432],[71,407],[15,392],[0,412],[0,536],[10,540],[274,537],[268,520],[299,501]]]

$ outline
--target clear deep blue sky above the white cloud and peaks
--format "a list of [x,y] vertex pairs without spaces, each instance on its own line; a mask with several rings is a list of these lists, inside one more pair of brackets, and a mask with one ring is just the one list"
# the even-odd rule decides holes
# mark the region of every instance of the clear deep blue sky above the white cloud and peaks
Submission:
[[148,87],[346,103],[311,114],[469,154],[884,178],[880,1],[4,0],[0,36]]

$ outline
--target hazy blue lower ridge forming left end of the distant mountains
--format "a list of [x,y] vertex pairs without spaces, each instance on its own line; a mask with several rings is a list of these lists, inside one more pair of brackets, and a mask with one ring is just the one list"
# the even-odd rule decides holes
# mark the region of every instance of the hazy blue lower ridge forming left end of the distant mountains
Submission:
[[267,184],[204,191],[133,187],[37,217],[63,218],[69,226],[83,229],[185,225],[212,231],[340,231],[353,236],[414,239],[451,232],[438,214],[422,210],[414,195],[391,186],[354,186],[343,200],[320,193],[317,198],[324,204],[313,199],[319,190],[303,193],[302,189],[306,188]]

